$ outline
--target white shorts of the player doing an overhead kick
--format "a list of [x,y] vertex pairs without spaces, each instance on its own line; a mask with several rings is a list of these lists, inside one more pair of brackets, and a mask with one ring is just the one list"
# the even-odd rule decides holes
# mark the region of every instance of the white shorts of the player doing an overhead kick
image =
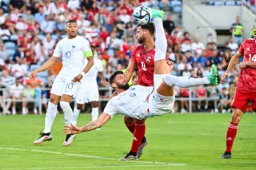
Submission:
[[154,91],[149,99],[149,117],[160,116],[165,113],[171,113],[174,108],[175,96],[164,97]]

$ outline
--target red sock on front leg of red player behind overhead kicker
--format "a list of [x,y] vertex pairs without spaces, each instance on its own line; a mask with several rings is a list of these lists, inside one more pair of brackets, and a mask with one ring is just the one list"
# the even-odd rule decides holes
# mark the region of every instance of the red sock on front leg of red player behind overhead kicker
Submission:
[[145,132],[146,132],[145,122],[135,124],[134,140],[130,148],[131,152],[138,152],[138,148],[142,144],[142,139],[145,135]]

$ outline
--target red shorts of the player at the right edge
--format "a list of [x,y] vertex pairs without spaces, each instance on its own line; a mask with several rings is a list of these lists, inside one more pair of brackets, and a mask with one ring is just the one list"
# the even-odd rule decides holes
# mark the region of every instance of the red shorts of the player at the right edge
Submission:
[[251,106],[256,111],[256,91],[244,91],[237,89],[231,107],[238,108],[242,112],[246,111],[248,103],[251,101]]

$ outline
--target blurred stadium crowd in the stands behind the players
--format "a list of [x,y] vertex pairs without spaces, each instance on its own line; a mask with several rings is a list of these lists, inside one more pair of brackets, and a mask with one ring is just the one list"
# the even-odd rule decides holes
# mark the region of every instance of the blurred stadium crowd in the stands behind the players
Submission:
[[[169,6],[172,1],[146,2],[147,6]],[[78,22],[78,33],[87,38],[91,46],[98,50],[98,58],[104,65],[106,80],[115,70],[126,69],[131,50],[137,44],[134,38],[136,26],[133,22],[133,6],[127,1],[96,0],[10,0],[0,3],[0,89],[7,89],[3,96],[0,90],[0,107],[6,107],[6,113],[16,114],[16,103],[9,99],[38,99],[42,93],[42,103],[46,107],[54,77],[62,67],[58,61],[47,72],[37,78],[28,79],[29,73],[42,65],[54,52],[54,46],[66,36],[65,26],[70,19]],[[181,3],[180,5],[181,6]],[[177,10],[177,5],[173,6]],[[180,8],[181,9],[181,8]],[[180,12],[180,11],[178,11]],[[207,44],[198,38],[192,38],[172,21],[171,14],[163,22],[168,42],[167,57],[174,62],[172,74],[187,77],[204,77],[212,64],[218,65],[221,76],[227,68],[232,54],[238,50],[238,44],[230,36],[230,41],[217,48],[216,42]],[[209,90],[204,87],[194,90],[193,97],[215,97],[214,102],[198,101],[194,110],[228,112],[228,105],[234,97],[239,70],[235,69],[225,85]],[[133,83],[137,77],[134,75]],[[98,85],[101,82],[98,81]],[[39,93],[39,95],[38,95]],[[101,97],[109,97],[101,93]],[[188,89],[175,89],[177,97],[189,97]],[[3,97],[6,103],[3,104]],[[204,103],[204,105],[202,105]],[[38,102],[34,103],[33,113],[38,113]],[[12,109],[10,107],[12,106]],[[176,111],[186,113],[188,101],[181,101]],[[27,102],[22,102],[22,114],[29,113]]]

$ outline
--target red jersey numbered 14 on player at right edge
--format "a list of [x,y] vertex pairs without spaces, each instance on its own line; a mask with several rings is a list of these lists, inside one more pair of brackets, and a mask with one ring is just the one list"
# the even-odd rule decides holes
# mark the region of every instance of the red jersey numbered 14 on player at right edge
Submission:
[[[247,38],[239,48],[243,62],[256,62],[256,40]],[[238,79],[238,89],[256,90],[256,69],[242,69]]]

